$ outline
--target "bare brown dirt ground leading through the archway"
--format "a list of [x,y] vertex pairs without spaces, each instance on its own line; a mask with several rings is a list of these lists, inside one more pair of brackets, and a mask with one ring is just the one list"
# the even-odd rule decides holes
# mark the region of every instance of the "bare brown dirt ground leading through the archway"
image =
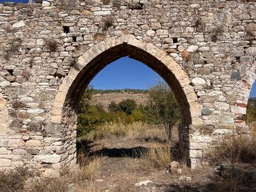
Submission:
[[[184,164],[170,170],[167,165],[159,168],[146,168],[140,163],[138,148],[147,148],[147,142],[127,140],[102,140],[89,144],[89,154],[101,155],[100,174],[95,185],[97,191],[237,191],[226,187],[222,178],[210,166],[191,170]],[[145,182],[141,184],[140,182]],[[84,184],[84,190],[90,183]],[[245,191],[252,191],[243,186]],[[87,188],[87,189],[86,189]],[[243,191],[239,190],[238,191]],[[256,188],[255,188],[256,191]]]

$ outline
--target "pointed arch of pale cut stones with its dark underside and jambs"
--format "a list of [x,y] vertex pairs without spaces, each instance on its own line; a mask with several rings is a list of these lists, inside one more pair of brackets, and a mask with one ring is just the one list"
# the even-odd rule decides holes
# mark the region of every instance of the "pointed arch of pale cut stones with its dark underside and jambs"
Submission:
[[104,66],[127,55],[155,70],[172,88],[181,106],[182,126],[179,146],[184,157],[190,159],[188,129],[203,122],[200,117],[201,105],[190,85],[188,75],[165,51],[156,48],[153,44],[145,44],[133,35],[123,35],[118,39],[114,37],[106,39],[87,50],[64,78],[58,90],[51,111],[51,126],[60,128],[64,135],[63,145],[68,146],[68,155],[62,154],[63,164],[67,166],[75,164],[75,111],[84,89]]

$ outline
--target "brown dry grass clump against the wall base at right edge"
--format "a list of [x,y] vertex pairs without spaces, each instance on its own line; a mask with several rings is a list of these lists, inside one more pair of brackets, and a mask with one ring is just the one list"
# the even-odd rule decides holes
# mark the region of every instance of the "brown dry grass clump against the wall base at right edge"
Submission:
[[246,135],[223,139],[209,152],[213,164],[248,163],[256,160],[256,141]]

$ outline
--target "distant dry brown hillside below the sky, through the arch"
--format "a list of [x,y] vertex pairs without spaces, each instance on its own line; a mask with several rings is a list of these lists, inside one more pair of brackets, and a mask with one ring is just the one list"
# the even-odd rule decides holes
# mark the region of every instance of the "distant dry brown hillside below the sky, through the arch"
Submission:
[[93,89],[93,96],[91,99],[92,105],[100,105],[105,111],[108,111],[111,102],[122,102],[125,99],[134,99],[137,105],[146,104],[147,90],[140,89],[116,89],[116,90],[98,90]]

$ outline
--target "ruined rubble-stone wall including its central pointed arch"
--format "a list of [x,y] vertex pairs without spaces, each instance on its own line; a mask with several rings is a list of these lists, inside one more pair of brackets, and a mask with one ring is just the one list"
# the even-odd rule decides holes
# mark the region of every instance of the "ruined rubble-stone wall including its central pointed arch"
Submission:
[[223,135],[248,133],[255,81],[253,1],[91,0],[0,4],[0,166],[44,175],[76,164],[76,108],[120,57],[165,79],[192,166]]

